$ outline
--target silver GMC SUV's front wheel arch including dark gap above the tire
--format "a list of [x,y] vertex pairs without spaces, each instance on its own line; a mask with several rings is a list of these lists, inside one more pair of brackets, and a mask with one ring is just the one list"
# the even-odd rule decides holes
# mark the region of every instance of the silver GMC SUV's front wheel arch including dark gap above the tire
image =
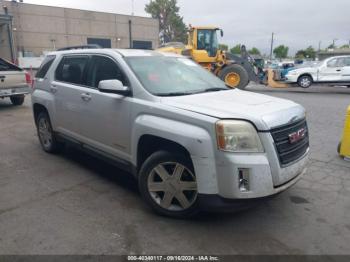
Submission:
[[[131,162],[136,170],[140,170],[146,156],[160,148],[159,146],[163,150],[169,151],[170,148],[175,152],[181,152],[192,161],[198,178],[199,192],[216,194],[218,185],[214,179],[216,176],[214,137],[211,137],[204,127],[162,116],[141,115],[133,125]],[[157,146],[152,145],[153,142]],[[152,145],[151,148],[147,148],[148,145]]]

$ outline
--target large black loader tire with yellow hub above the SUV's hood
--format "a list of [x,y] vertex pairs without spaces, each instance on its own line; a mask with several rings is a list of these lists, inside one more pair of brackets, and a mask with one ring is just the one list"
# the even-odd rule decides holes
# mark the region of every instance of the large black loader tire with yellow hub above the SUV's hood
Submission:
[[245,89],[249,83],[248,72],[238,64],[226,66],[218,76],[231,88]]

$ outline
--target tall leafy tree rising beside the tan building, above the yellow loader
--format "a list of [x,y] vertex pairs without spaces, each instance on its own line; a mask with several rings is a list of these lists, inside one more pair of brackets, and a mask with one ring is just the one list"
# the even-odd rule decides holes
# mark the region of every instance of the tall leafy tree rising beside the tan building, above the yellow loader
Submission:
[[145,11],[159,20],[159,35],[162,43],[186,42],[187,28],[180,16],[177,0],[151,0]]

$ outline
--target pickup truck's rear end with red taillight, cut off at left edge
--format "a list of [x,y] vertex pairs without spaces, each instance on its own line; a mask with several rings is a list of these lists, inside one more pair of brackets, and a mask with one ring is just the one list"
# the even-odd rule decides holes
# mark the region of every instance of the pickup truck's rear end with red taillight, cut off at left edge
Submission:
[[9,97],[13,105],[24,103],[31,89],[31,76],[22,68],[0,58],[0,98]]

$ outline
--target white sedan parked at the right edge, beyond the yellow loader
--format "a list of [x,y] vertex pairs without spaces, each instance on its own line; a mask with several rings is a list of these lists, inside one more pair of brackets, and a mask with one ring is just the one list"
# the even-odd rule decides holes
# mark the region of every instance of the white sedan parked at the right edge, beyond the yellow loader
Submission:
[[287,83],[308,88],[313,83],[340,84],[350,87],[350,56],[331,57],[322,62],[291,70]]

